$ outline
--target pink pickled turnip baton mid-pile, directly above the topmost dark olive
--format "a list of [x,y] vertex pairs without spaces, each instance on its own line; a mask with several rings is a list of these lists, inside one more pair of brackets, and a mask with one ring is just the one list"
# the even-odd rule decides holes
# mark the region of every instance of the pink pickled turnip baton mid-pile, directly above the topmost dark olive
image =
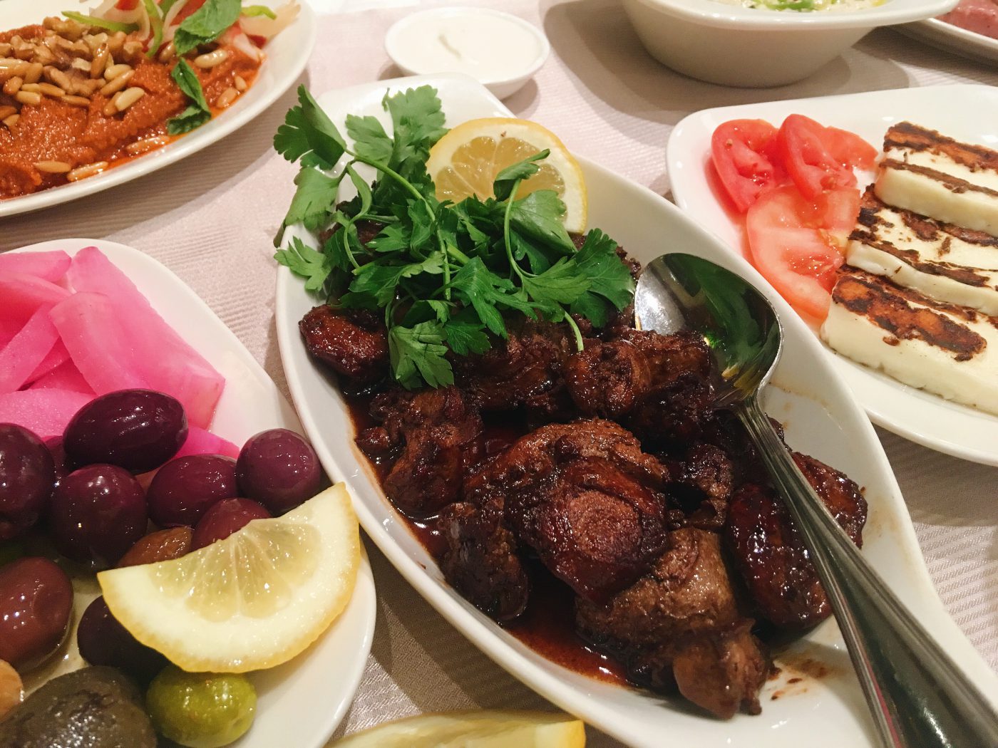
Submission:
[[50,314],[73,363],[98,395],[153,389],[135,366],[135,340],[102,293],[74,293]]

